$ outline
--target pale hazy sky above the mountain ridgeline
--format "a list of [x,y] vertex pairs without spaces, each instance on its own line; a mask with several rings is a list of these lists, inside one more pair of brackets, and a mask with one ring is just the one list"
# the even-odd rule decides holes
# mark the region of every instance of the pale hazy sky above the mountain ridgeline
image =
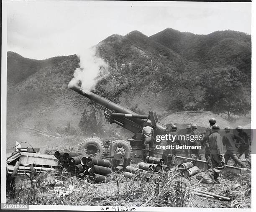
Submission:
[[33,59],[79,54],[112,34],[133,30],[147,36],[165,28],[251,34],[251,3],[3,0],[3,6],[8,51]]

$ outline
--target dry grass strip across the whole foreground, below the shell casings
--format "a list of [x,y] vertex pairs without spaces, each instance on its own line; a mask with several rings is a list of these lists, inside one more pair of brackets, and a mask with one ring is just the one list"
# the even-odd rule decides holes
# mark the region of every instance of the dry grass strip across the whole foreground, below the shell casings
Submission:
[[[224,173],[223,173],[224,174]],[[228,173],[227,173],[228,175]],[[143,176],[127,179],[123,174],[113,173],[108,183],[91,184],[71,173],[60,172],[56,179],[63,186],[74,185],[74,191],[66,197],[54,194],[53,186],[42,186],[42,179],[29,181],[30,186],[13,186],[8,190],[8,204],[47,204],[47,205],[100,205],[100,206],[140,206],[140,207],[251,207],[251,176],[246,173],[223,185],[200,185],[201,190],[230,197],[231,201],[192,196],[190,187],[198,188],[194,178],[180,177],[177,169],[162,173],[147,181]],[[223,176],[226,179],[226,176]],[[241,187],[233,190],[233,184]],[[217,191],[218,190],[218,191]]]

